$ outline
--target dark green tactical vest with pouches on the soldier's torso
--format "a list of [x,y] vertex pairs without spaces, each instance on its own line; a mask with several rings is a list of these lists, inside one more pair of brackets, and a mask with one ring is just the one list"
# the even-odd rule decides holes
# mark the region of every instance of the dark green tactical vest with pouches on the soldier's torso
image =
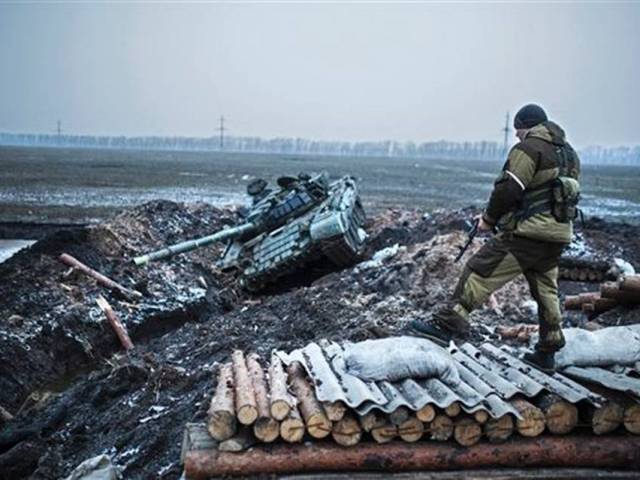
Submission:
[[549,142],[529,137],[515,148],[522,150],[536,162],[536,171],[557,168],[558,176],[542,185],[526,189],[514,217],[521,221],[539,213],[551,213],[558,222],[575,220],[579,213],[580,171],[578,156],[571,145],[556,139]]

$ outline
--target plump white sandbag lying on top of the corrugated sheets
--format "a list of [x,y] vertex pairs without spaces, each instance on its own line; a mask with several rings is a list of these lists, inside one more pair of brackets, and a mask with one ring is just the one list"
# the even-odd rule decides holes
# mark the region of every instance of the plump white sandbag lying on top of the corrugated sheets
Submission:
[[362,380],[438,378],[450,385],[460,383],[449,352],[422,338],[391,337],[347,344],[344,359],[348,373]]

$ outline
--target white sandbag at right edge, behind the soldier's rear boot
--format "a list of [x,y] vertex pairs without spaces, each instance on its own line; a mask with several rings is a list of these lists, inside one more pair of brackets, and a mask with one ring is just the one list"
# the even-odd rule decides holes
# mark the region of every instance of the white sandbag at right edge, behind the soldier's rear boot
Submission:
[[594,332],[567,328],[562,333],[567,343],[556,354],[557,367],[607,367],[640,361],[640,325],[607,327]]

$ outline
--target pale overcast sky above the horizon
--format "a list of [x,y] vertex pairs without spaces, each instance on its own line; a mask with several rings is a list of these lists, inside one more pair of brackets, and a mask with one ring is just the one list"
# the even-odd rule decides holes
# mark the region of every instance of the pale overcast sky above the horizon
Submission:
[[0,4],[0,131],[640,144],[640,2]]

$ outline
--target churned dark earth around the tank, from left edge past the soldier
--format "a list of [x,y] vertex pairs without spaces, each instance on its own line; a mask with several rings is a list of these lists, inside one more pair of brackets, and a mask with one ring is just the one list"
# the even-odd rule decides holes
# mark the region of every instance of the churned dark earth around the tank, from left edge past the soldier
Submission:
[[[128,261],[233,223],[233,209],[153,202],[97,227],[44,238],[0,265],[0,406],[15,414],[0,427],[0,478],[61,478],[100,453],[126,478],[178,478],[182,431],[205,418],[216,363],[237,348],[264,357],[321,338],[393,334],[428,317],[455,285],[464,262],[453,259],[465,220],[476,213],[385,211],[368,221],[370,242],[359,264],[257,296],[215,268],[220,247],[143,269]],[[638,233],[591,222],[583,236],[590,248],[616,249],[637,268]],[[69,274],[57,259],[62,252],[143,299],[135,303]],[[99,294],[130,330],[136,347],[128,355],[119,353],[95,303]],[[638,309],[607,315],[600,317],[607,323],[638,322]],[[535,323],[524,281],[497,292],[473,321],[476,338],[491,338],[498,324]]]

